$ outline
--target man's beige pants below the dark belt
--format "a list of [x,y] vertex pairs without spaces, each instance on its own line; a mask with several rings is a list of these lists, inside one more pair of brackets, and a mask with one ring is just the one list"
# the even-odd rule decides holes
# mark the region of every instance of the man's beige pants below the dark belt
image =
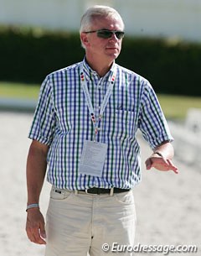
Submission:
[[45,256],[131,256],[131,251],[118,252],[117,244],[133,246],[135,229],[132,191],[110,196],[53,188],[47,212]]

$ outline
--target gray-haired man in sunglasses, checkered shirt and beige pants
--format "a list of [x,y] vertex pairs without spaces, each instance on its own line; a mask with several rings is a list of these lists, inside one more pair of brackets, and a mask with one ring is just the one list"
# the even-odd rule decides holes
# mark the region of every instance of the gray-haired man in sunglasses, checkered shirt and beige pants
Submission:
[[[178,173],[152,86],[115,63],[123,36],[115,9],[89,8],[80,27],[85,59],[50,74],[41,87],[29,133],[26,230],[33,243],[47,243],[46,256],[100,256],[105,243],[133,245],[138,128],[153,149],[147,169]],[[39,195],[47,163],[53,187],[44,228]]]

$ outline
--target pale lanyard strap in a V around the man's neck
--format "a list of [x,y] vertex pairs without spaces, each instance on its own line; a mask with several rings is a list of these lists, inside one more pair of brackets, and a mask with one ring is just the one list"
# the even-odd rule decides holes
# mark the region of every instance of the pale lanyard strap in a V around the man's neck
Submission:
[[[88,90],[88,87],[87,87],[87,84],[86,84],[86,81],[85,81],[85,75],[84,75],[84,72],[83,72],[83,67],[81,67],[81,69],[80,69],[80,79],[81,79],[81,85],[82,85],[83,91],[85,93],[86,103],[87,103],[87,106],[88,106],[89,111],[90,111],[90,118],[91,118],[91,121],[94,124],[95,135],[97,135],[99,130],[100,130],[99,124],[101,123],[101,118],[103,116],[103,112],[105,111],[106,105],[109,102],[109,98],[111,97],[113,86],[114,86],[114,83],[115,83],[115,80],[116,80],[116,67],[115,67],[114,71],[111,74],[110,84],[107,88],[106,95],[103,99],[103,102],[101,103],[100,114],[99,114],[99,118],[98,118],[97,122],[95,120],[95,111],[94,111],[94,107],[93,107],[92,102],[91,102],[90,92]],[[95,136],[94,136],[94,141],[95,141]]]

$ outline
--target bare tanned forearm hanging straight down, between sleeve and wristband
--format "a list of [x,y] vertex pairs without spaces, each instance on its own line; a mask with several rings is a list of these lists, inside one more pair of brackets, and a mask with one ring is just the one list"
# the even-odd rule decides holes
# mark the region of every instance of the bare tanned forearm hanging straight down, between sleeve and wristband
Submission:
[[48,148],[33,141],[27,159],[28,204],[39,203],[39,196],[44,184]]

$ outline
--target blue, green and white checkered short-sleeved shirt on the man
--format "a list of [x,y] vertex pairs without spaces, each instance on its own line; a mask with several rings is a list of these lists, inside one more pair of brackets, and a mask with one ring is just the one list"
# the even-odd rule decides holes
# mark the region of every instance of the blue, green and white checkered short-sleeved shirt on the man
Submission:
[[[99,115],[115,66],[117,71],[97,135],[98,142],[108,145],[101,177],[78,173],[84,141],[92,140],[94,136],[80,82],[82,65],[95,116]],[[115,62],[111,71],[100,78],[83,60],[46,77],[28,137],[49,145],[48,181],[55,187],[83,190],[93,186],[114,186],[127,189],[141,180],[138,128],[152,149],[163,141],[173,140],[149,82]]]

